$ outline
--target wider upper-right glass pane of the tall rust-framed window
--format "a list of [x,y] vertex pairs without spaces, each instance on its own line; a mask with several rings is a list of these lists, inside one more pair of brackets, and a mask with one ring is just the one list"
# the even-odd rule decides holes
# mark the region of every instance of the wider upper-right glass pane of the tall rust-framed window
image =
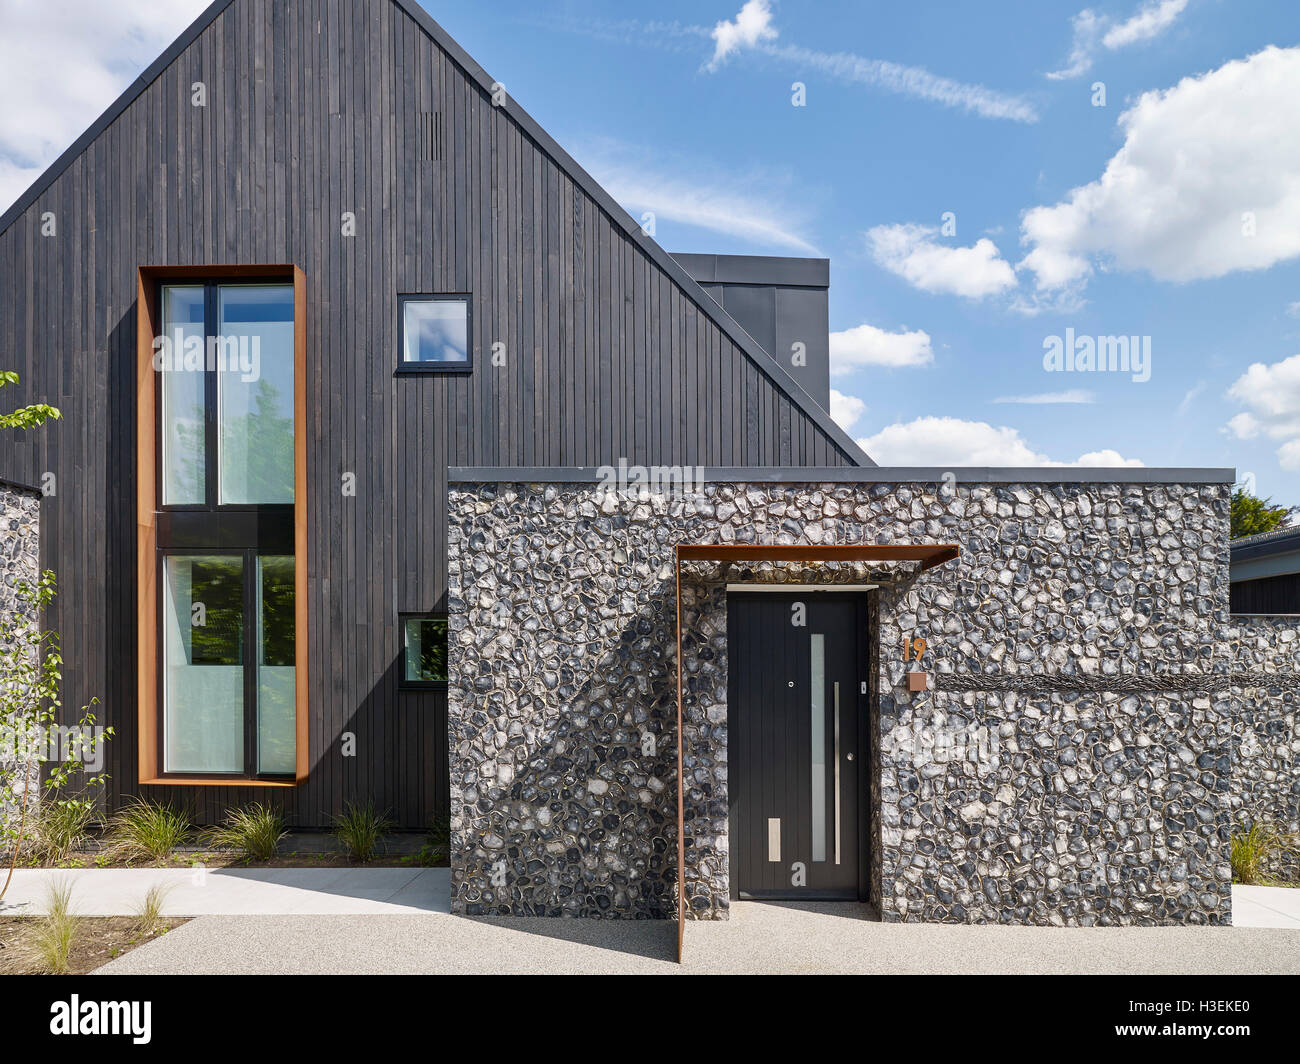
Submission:
[[292,285],[224,285],[217,303],[221,502],[292,502]]

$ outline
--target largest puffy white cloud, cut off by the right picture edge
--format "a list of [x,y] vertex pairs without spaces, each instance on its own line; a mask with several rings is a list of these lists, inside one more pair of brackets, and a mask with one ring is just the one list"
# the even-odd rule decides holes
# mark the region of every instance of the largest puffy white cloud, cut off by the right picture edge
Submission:
[[1105,173],[1024,213],[1019,265],[1050,291],[1112,264],[1180,282],[1300,255],[1297,98],[1300,48],[1274,47],[1144,94]]

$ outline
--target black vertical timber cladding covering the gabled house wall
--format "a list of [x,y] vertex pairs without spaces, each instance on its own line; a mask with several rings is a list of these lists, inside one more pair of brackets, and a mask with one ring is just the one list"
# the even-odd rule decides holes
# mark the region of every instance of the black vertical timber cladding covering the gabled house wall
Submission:
[[[867,460],[489,85],[402,0],[221,0],[0,219],[13,398],[65,415],[4,433],[0,454],[18,480],[55,475],[42,561],[60,578],[64,702],[99,697],[118,731],[112,805],[136,779],[140,265],[295,263],[307,277],[311,775],[285,792],[150,788],[200,821],[259,800],[302,826],[347,799],[408,827],[445,809],[446,695],[399,692],[398,614],[443,604],[448,466]],[[56,237],[40,235],[44,212]],[[394,380],[403,291],[474,294],[473,375]],[[356,757],[339,756],[344,734]]]

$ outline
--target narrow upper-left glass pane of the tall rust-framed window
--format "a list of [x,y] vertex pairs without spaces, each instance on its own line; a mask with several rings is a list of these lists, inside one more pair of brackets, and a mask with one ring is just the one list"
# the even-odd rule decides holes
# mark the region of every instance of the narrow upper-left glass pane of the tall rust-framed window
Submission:
[[162,505],[205,501],[203,286],[162,289]]

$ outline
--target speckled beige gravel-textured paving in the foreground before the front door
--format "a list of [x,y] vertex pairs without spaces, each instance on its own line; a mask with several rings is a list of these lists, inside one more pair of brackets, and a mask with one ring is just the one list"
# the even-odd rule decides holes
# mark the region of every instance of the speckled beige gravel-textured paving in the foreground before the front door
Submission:
[[732,920],[204,917],[104,974],[1300,974],[1300,929],[879,924],[858,905],[738,903]]

